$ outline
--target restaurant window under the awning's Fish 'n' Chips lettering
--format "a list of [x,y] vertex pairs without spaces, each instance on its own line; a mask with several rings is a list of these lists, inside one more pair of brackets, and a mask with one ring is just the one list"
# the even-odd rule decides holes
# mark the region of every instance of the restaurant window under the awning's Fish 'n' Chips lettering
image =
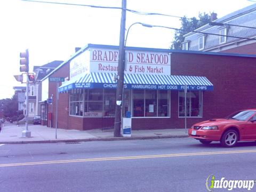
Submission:
[[[187,117],[202,117],[202,92],[188,91],[186,95]],[[179,91],[179,117],[185,116],[185,94]]]

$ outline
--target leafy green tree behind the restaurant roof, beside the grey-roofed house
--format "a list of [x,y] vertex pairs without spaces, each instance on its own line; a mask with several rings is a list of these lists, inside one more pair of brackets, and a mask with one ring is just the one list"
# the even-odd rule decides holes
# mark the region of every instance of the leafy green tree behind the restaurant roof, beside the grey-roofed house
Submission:
[[189,33],[188,31],[195,30],[201,26],[206,25],[211,21],[211,15],[207,13],[199,13],[198,18],[187,18],[184,16],[180,19],[181,28],[180,30],[176,30],[174,34],[174,41],[172,42],[171,49],[182,50],[182,42],[184,41],[183,35]]

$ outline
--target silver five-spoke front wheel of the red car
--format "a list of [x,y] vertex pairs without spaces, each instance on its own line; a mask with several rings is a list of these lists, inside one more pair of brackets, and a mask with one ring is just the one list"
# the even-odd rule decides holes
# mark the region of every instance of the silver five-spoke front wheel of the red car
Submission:
[[238,133],[235,130],[228,130],[223,133],[220,143],[223,147],[234,147],[238,141]]

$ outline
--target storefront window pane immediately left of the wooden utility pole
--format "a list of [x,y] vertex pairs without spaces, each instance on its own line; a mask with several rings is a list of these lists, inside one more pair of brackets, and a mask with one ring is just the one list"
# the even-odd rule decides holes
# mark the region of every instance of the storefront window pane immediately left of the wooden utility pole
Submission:
[[115,117],[116,90],[104,90],[103,116]]

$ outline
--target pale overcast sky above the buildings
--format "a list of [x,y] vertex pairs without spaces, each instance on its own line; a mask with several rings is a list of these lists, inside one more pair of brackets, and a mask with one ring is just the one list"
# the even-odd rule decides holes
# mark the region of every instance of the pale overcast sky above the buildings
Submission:
[[[44,1],[44,0],[41,0]],[[122,6],[122,0],[47,0],[100,6]],[[127,0],[127,9],[197,17],[198,13],[215,12],[221,18],[252,5],[249,0]],[[85,6],[34,3],[21,0],[0,1],[0,99],[11,98],[20,74],[19,53],[29,50],[30,72],[53,60],[67,60],[75,47],[88,43],[118,45],[121,10],[97,9]],[[134,22],[179,28],[178,18],[139,15],[127,12],[126,29]],[[127,46],[169,49],[174,31],[134,25]]]

